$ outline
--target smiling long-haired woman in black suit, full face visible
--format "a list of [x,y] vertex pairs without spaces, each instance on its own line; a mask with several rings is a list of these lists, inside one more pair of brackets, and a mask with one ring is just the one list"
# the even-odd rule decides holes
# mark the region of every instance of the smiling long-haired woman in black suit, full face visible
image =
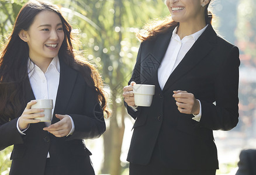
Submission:
[[[14,145],[10,175],[95,174],[83,139],[105,131],[106,99],[94,65],[75,55],[57,6],[29,1],[0,57],[0,150]],[[52,99],[40,122],[38,99]]]

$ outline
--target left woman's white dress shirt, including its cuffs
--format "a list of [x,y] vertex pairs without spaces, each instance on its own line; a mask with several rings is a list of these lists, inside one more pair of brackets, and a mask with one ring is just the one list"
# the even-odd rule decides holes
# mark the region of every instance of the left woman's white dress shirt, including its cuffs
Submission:
[[[60,82],[60,61],[58,60],[58,56],[53,58],[53,60],[51,61],[45,73],[41,71],[41,69],[37,67],[37,65],[35,65],[32,60],[29,59],[27,63],[27,72],[29,75],[29,82],[34,93],[34,97],[36,99],[53,99],[53,110],[51,113],[51,119],[53,119],[53,112],[54,112],[54,107],[56,103],[58,84]],[[68,135],[72,134],[75,129],[74,121],[72,120],[72,117],[70,118],[72,122],[72,129]],[[20,132],[20,134],[26,135],[24,132],[29,127],[27,127],[23,131],[20,131],[18,123],[19,123],[19,119],[17,122],[18,131]],[[44,122],[44,123],[46,124],[47,127],[51,125],[51,122]],[[47,157],[49,157],[49,155]]]

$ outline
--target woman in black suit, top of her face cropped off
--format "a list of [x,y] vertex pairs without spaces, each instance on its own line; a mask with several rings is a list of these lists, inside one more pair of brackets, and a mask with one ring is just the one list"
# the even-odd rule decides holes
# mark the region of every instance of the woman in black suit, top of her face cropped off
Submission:
[[[240,60],[213,29],[210,2],[167,0],[171,17],[137,33],[140,49],[123,89],[136,120],[130,175],[213,175],[219,168],[213,130],[237,125]],[[155,85],[150,107],[135,106],[136,83]]]

